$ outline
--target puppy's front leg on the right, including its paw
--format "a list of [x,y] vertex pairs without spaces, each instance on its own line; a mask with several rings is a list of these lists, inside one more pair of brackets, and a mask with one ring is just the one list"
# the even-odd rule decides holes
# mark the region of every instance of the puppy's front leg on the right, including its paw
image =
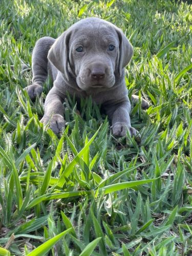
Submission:
[[110,104],[104,107],[106,114],[112,120],[112,132],[115,136],[125,136],[126,131],[130,132],[131,136],[136,135],[137,130],[131,126],[130,110],[131,104],[129,99],[126,99],[118,104]]

